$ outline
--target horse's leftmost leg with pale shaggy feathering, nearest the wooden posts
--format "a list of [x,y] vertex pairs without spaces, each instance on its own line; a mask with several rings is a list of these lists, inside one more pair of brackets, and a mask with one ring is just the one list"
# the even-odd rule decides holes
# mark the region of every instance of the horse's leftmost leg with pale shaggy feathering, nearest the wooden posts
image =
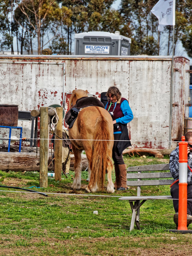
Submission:
[[81,164],[81,151],[77,149],[75,146],[72,144],[72,149],[75,157],[75,163],[74,163],[74,168],[75,168],[75,178],[73,180],[72,184],[72,189],[80,189],[81,188],[81,170],[82,170],[82,164]]

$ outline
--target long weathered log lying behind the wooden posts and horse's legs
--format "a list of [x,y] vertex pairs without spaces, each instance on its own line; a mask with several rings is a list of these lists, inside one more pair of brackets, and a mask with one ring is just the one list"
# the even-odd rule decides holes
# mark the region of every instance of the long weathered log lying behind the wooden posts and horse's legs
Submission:
[[[74,155],[70,154],[70,170],[74,171]],[[87,168],[87,157],[82,154],[82,169]],[[39,171],[39,153],[35,152],[0,152],[0,170],[5,171]],[[50,164],[50,165],[49,165]],[[53,170],[52,155],[49,153],[48,171]]]

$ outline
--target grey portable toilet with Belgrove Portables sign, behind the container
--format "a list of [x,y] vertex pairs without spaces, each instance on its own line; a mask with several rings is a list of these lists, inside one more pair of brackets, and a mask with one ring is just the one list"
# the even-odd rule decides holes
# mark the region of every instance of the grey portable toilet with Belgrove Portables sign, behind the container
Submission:
[[75,34],[75,55],[130,55],[131,38],[109,32]]

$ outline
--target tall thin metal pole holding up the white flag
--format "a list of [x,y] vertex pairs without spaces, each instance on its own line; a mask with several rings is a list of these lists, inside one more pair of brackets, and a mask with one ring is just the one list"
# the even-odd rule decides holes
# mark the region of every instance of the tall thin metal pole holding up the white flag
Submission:
[[171,65],[171,88],[170,88],[170,115],[169,115],[169,148],[172,148],[172,99],[174,89],[174,48],[175,48],[175,25],[173,25],[172,42],[172,65]]

